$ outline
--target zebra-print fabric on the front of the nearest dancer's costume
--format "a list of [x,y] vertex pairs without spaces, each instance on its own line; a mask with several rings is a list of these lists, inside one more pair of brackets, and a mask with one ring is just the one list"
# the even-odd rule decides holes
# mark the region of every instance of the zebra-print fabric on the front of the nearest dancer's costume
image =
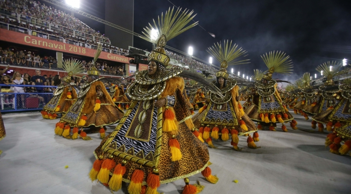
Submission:
[[[136,139],[131,139],[126,137],[126,133],[132,123],[132,120],[134,117],[135,119],[138,119],[138,115],[135,115],[135,113],[138,110],[140,101],[134,106],[132,112],[130,115],[127,117],[123,125],[121,126],[121,129],[118,131],[116,136],[113,138],[112,142],[115,142],[117,144],[117,148],[124,145],[125,150],[128,151],[130,148],[134,148],[134,153],[138,153],[141,150],[144,152],[144,156],[146,156],[148,153],[152,152],[152,154],[155,153],[155,148],[156,148],[156,133],[157,133],[157,108],[154,107],[153,114],[152,114],[152,126],[151,126],[151,133],[150,133],[150,140],[149,141],[139,141]],[[149,118],[147,118],[149,119]]]

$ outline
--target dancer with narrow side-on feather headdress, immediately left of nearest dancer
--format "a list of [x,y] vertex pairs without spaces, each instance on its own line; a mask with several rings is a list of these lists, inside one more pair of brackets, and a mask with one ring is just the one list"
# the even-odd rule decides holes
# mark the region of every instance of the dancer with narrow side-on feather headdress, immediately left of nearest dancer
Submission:
[[[101,48],[101,44],[99,44],[93,64],[98,59]],[[95,65],[92,65],[87,73],[87,82],[81,86],[77,100],[56,124],[55,134],[68,139],[77,139],[79,128],[89,127],[92,131],[98,130],[100,138],[104,138],[105,126],[117,123],[122,118],[124,113],[115,106],[101,81],[102,78],[99,78],[100,71]],[[71,127],[73,127],[72,136],[70,134]],[[83,130],[80,132],[80,137],[84,140],[91,139],[86,136],[86,132]]]

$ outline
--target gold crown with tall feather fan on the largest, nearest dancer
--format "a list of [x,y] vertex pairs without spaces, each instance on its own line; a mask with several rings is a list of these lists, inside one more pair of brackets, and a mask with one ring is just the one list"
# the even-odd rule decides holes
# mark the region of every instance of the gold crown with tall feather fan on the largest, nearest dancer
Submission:
[[170,62],[170,58],[166,55],[164,49],[166,42],[198,25],[198,22],[195,22],[185,27],[187,23],[195,17],[196,14],[191,16],[193,11],[189,12],[187,9],[181,11],[181,8],[178,8],[173,15],[173,9],[174,7],[172,10],[170,7],[168,11],[166,11],[165,18],[163,18],[163,13],[161,14],[161,19],[160,16],[158,16],[158,25],[156,25],[155,20],[153,20],[154,27],[149,23],[150,28],[144,28],[145,32],[143,32],[143,34],[146,37],[141,38],[156,44],[156,48],[148,55],[148,61],[157,61],[167,66],[168,62]]

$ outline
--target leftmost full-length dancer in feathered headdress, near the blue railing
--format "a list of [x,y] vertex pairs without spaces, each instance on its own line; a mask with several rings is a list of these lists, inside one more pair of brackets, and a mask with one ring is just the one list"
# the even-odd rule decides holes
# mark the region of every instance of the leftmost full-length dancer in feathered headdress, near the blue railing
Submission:
[[68,75],[61,79],[62,82],[53,92],[54,96],[41,111],[43,118],[56,119],[58,114],[66,113],[77,99],[77,91],[74,88],[75,84],[71,82],[71,77],[84,72],[85,69],[82,63],[77,60],[66,60],[63,68]]

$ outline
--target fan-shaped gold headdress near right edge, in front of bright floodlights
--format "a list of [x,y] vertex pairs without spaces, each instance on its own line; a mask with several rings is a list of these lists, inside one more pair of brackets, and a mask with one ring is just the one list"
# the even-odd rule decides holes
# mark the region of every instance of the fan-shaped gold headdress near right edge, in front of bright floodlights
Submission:
[[337,76],[337,75],[341,75],[344,74],[346,72],[346,70],[348,70],[348,68],[345,68],[344,70],[341,70],[342,68],[342,64],[336,61],[328,61],[326,63],[323,63],[321,65],[319,65],[316,70],[318,72],[320,72],[321,74],[323,74],[326,78],[327,81],[324,82],[325,86],[331,86],[331,85],[335,85],[335,83],[333,82],[333,77]]

